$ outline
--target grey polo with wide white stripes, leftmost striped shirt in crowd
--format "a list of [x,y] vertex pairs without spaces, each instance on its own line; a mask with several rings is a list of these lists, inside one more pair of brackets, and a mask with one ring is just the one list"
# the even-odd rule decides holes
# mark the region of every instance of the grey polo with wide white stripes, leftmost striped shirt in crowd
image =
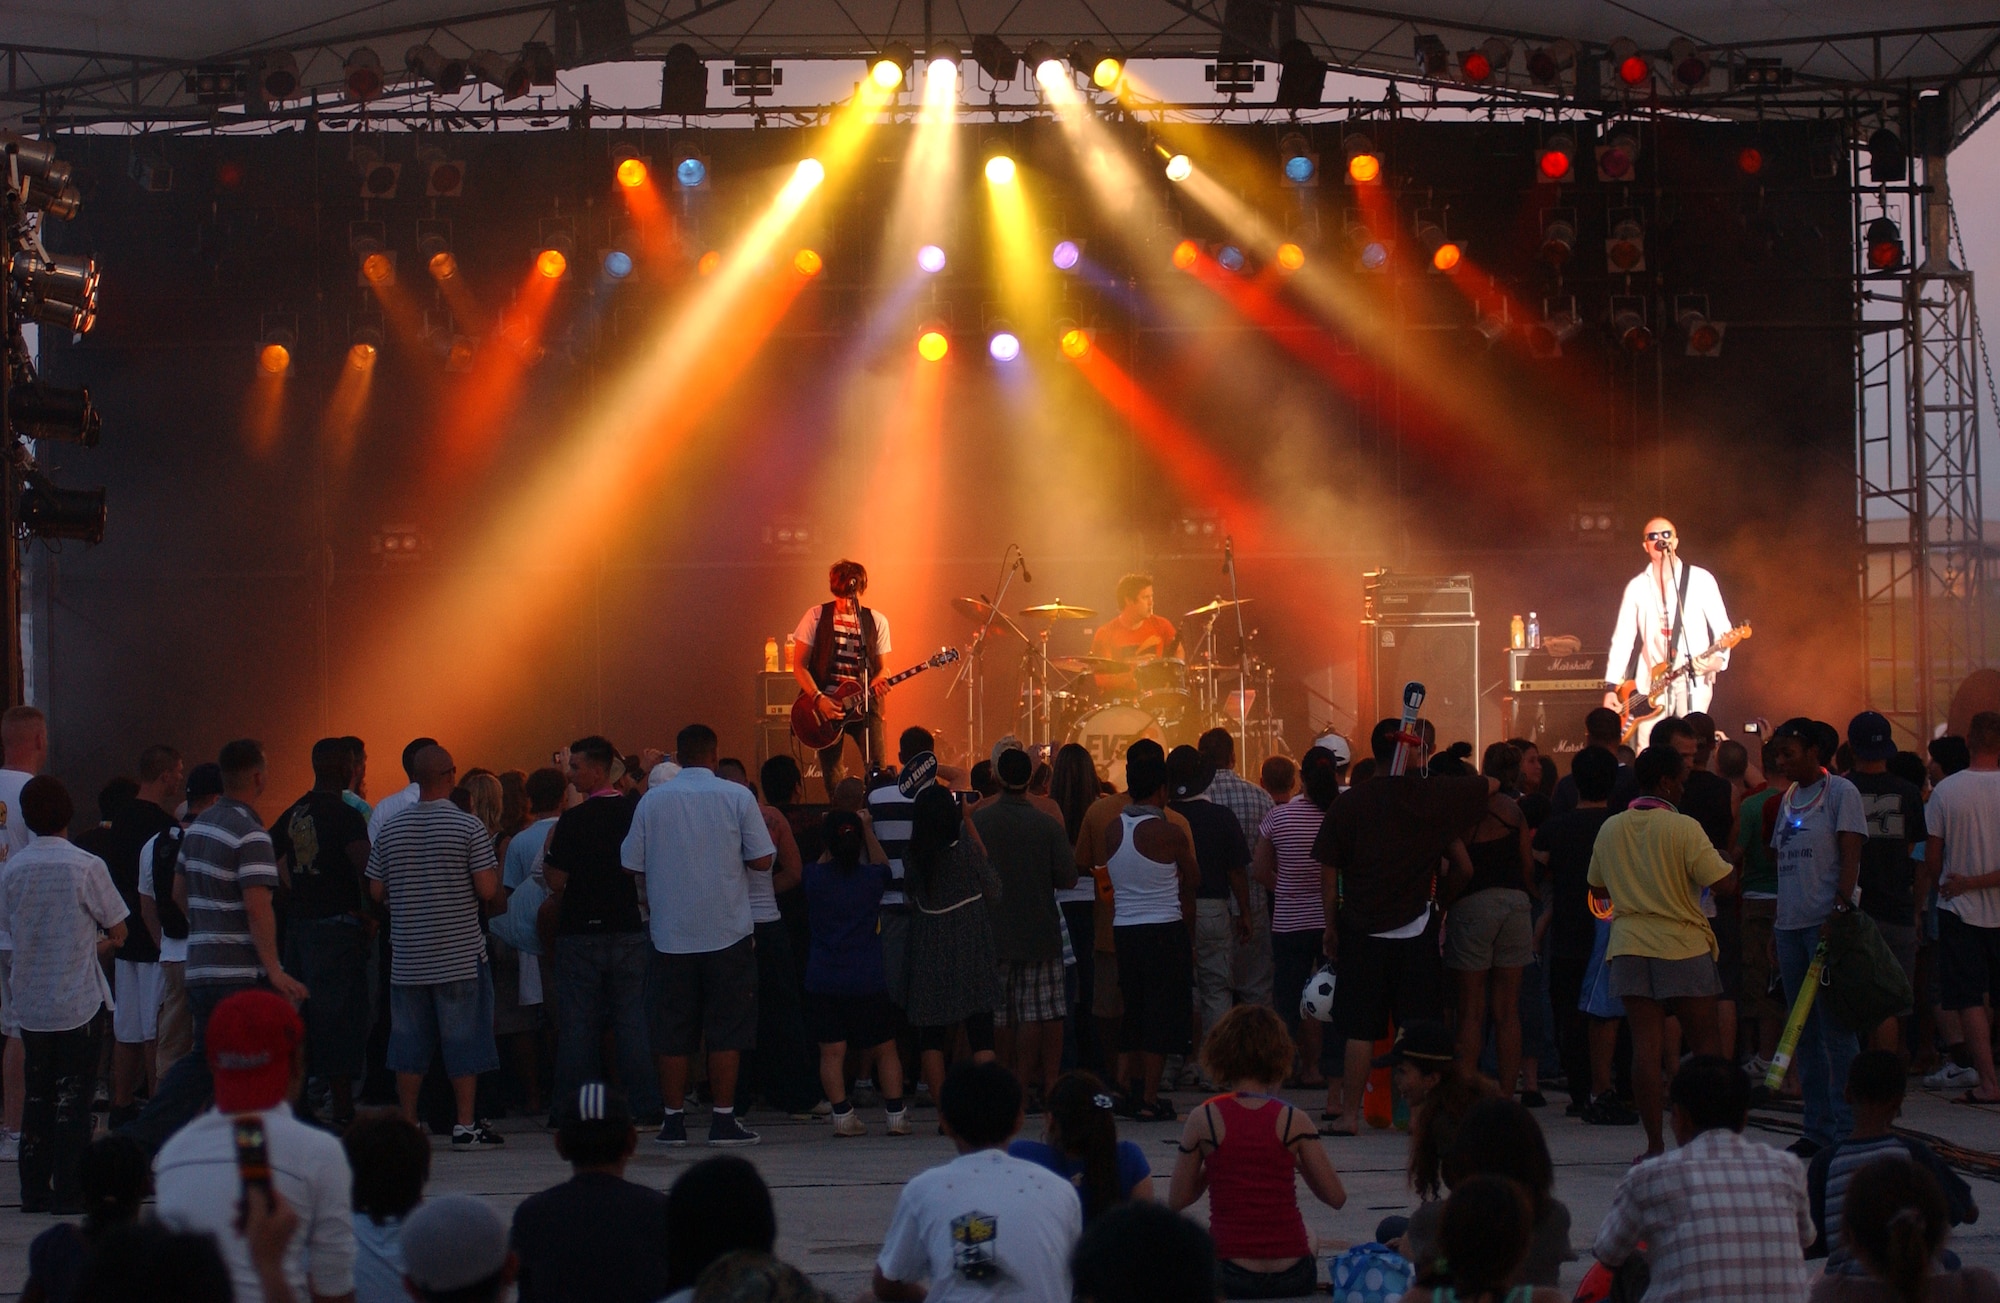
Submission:
[[180,839],[180,871],[188,877],[188,967],[200,985],[254,985],[264,963],[250,939],[244,887],[278,889],[278,857],[254,809],[222,797],[188,823]]

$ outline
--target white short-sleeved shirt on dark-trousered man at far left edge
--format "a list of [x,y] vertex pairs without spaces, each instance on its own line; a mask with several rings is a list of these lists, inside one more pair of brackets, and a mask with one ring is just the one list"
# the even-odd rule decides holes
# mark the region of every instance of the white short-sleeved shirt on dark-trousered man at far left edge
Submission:
[[20,935],[8,985],[22,1031],[70,1031],[112,1007],[98,935],[128,909],[112,873],[62,837],[36,837],[0,865],[0,917]]

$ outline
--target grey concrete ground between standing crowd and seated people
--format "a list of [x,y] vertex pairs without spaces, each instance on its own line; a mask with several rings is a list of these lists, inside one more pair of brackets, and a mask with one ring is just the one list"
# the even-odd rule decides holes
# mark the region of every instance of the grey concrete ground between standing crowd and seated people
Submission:
[[[1186,1107],[1194,1093],[1178,1095]],[[1304,1093],[1294,1101],[1316,1107]],[[1562,1115],[1564,1097],[1550,1093],[1550,1107],[1540,1113],[1556,1159],[1556,1197],[1570,1209],[1572,1243],[1578,1255],[1588,1255],[1598,1221],[1610,1207],[1612,1191],[1630,1159],[1644,1145],[1638,1127],[1586,1127]],[[888,1227],[902,1183],[952,1155],[950,1141],[934,1133],[934,1113],[916,1111],[916,1137],[880,1135],[880,1111],[864,1111],[874,1135],[836,1141],[824,1123],[792,1123],[770,1113],[750,1115],[750,1125],[762,1131],[764,1143],[740,1149],[764,1173],[778,1205],[778,1253],[810,1273],[828,1291],[852,1299],[868,1285],[882,1231]],[[706,1119],[690,1119],[690,1133],[706,1133]],[[1758,1113],[1752,1135],[1772,1145],[1788,1145],[1796,1133],[1796,1115]],[[1030,1119],[1030,1131],[1038,1129]],[[1786,1131],[1786,1125],[1792,1131]],[[1944,1137],[1956,1145],[1980,1151],[2000,1149],[2000,1109],[1972,1109],[1948,1103],[1942,1095],[1912,1091],[1904,1125]],[[1152,1159],[1158,1195],[1166,1197],[1166,1177],[1174,1165],[1174,1141],[1180,1127],[1168,1123],[1120,1123],[1126,1139],[1138,1141]],[[506,1149],[488,1153],[452,1153],[438,1141],[430,1189],[462,1191],[490,1199],[510,1211],[526,1195],[554,1185],[568,1175],[556,1157],[554,1143],[540,1125],[512,1119],[502,1125]],[[1412,1205],[1404,1175],[1408,1137],[1398,1131],[1374,1131],[1354,1139],[1322,1139],[1334,1169],[1348,1189],[1348,1203],[1338,1213],[1316,1203],[1300,1185],[1306,1227],[1318,1239],[1322,1253],[1370,1239],[1374,1225],[1386,1213],[1408,1211]],[[666,1189],[674,1177],[704,1157],[694,1143],[686,1149],[662,1149],[650,1137],[640,1139],[640,1153],[626,1173],[634,1181]],[[1984,1209],[1978,1225],[1962,1227],[1952,1247],[1968,1263],[2000,1269],[2000,1183],[1968,1175],[1974,1199]],[[1206,1219],[1206,1199],[1190,1209]],[[0,1299],[20,1293],[26,1277],[26,1249],[48,1217],[20,1213],[20,1191],[12,1173],[0,1171]],[[1586,1263],[1564,1271],[1570,1285]]]

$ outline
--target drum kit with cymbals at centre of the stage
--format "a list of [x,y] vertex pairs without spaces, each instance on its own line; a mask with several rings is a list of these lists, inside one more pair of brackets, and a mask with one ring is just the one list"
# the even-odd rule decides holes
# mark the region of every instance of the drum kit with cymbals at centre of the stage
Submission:
[[[1050,653],[1050,636],[1064,622],[1096,618],[1088,606],[1046,602],[1008,618],[982,598],[952,598],[952,610],[988,636],[1008,634],[1026,644],[1020,737],[1050,749],[1064,741],[1082,743],[1098,761],[1098,769],[1122,785],[1124,751],[1140,737],[1172,747],[1192,745],[1212,727],[1242,733],[1258,695],[1266,701],[1264,713],[1270,713],[1274,677],[1270,665],[1256,659],[1224,661],[1216,655],[1216,616],[1250,602],[1252,598],[1240,602],[1216,598],[1184,612],[1186,630],[1200,630],[1198,638],[1184,640],[1188,655],[1152,655],[1136,661]],[[1250,719],[1252,733],[1260,731],[1258,723],[1264,721]],[[1260,763],[1264,747],[1250,749],[1258,751]]]

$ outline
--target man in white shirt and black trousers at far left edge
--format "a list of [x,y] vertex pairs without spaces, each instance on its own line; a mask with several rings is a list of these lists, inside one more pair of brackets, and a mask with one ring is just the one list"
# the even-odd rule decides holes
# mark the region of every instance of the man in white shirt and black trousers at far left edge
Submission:
[[110,1003],[104,959],[126,937],[126,907],[104,861],[70,845],[74,817],[60,779],[20,789],[34,841],[0,865],[0,913],[14,935],[14,1025],[26,1063],[20,1131],[20,1211],[84,1211],[98,1013]]

